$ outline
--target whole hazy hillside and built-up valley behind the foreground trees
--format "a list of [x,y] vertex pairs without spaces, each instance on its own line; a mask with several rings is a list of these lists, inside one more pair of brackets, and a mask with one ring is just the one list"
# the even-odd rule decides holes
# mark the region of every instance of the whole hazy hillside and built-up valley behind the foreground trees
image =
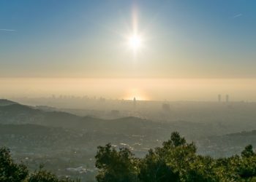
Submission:
[[219,123],[154,122],[133,116],[98,119],[18,103],[0,106],[0,143],[12,149],[15,159],[26,160],[31,169],[43,163],[57,175],[79,175],[82,179],[94,178],[97,146],[109,142],[116,149],[128,148],[137,157],[161,146],[173,131],[195,141],[199,154],[211,157],[238,154],[249,143],[255,146],[255,131],[229,129]]

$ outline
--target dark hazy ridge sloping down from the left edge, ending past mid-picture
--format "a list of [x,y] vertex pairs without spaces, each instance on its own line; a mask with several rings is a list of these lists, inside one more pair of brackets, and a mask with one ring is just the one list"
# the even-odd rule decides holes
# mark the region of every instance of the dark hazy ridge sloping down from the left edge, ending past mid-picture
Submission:
[[[42,124],[51,127],[66,127],[77,130],[128,132],[154,128],[159,124],[136,117],[120,119],[97,119],[91,116],[76,116],[60,111],[42,111],[31,106],[12,104],[0,106],[0,124]],[[152,126],[151,124],[154,124]],[[138,131],[139,132],[139,131]]]

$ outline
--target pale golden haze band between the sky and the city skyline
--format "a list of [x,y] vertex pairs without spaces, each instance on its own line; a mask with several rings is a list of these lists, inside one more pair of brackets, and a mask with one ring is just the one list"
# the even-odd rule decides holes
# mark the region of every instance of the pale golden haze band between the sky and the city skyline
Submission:
[[1,78],[6,98],[73,95],[132,100],[256,101],[256,79]]

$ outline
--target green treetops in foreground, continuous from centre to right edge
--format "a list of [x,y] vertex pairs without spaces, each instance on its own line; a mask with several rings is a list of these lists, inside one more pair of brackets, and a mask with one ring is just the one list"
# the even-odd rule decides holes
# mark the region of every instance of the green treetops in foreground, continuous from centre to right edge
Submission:
[[99,146],[96,167],[97,181],[101,182],[256,181],[256,155],[251,145],[245,147],[241,157],[213,159],[197,155],[195,143],[187,143],[178,132],[142,159],[135,158],[128,149]]

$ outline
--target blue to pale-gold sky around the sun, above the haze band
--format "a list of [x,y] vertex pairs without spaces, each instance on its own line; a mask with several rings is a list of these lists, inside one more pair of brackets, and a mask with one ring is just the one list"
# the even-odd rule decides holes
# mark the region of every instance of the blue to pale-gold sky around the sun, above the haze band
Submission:
[[254,0],[1,0],[0,79],[255,79],[255,20]]

